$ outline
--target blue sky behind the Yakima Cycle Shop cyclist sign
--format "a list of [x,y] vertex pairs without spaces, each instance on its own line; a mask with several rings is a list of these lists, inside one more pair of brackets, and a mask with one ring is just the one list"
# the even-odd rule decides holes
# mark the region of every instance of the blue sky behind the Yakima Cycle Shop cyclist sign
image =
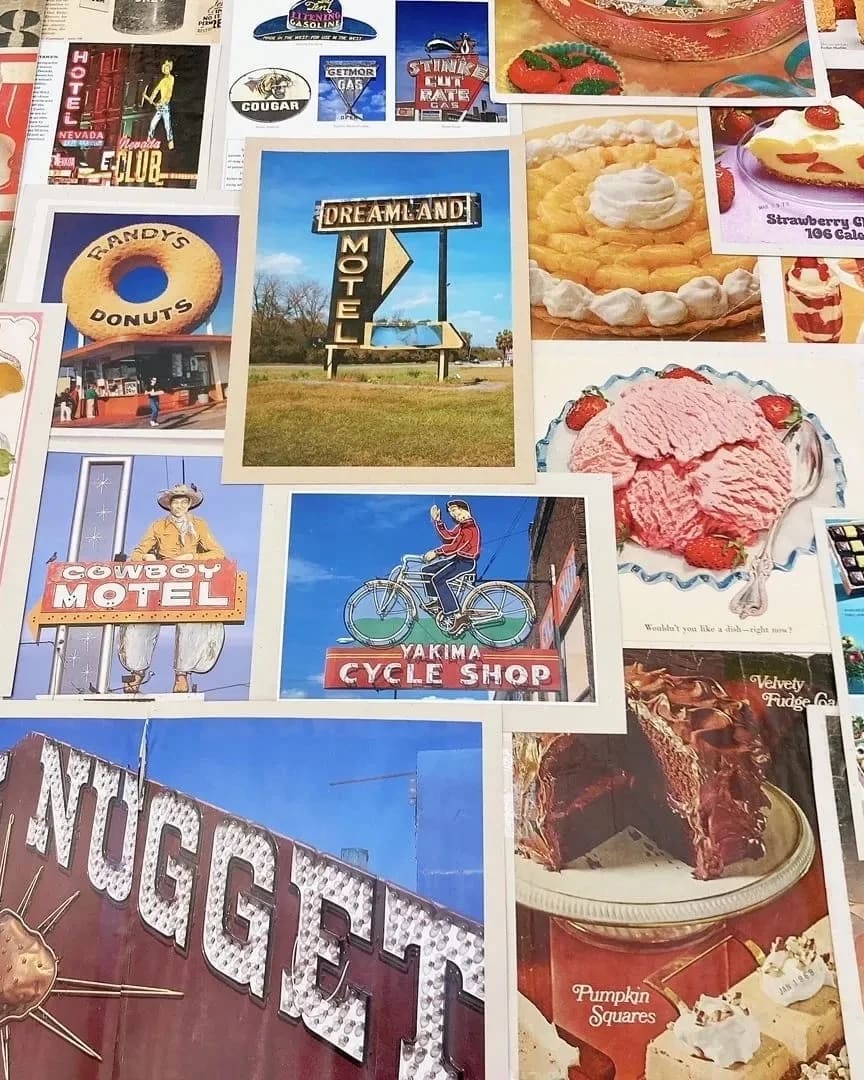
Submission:
[[[347,636],[345,602],[369,578],[386,577],[400,558],[436,548],[442,541],[429,518],[442,495],[312,495],[292,497],[291,542],[282,646],[283,697],[323,697],[322,673],[328,647]],[[486,578],[519,581],[528,572],[528,525],[537,499],[521,496],[469,497],[483,548],[477,569]],[[405,698],[429,697],[404,690]],[[328,690],[328,698],[369,700],[374,691]],[[436,697],[473,697],[486,691]]]

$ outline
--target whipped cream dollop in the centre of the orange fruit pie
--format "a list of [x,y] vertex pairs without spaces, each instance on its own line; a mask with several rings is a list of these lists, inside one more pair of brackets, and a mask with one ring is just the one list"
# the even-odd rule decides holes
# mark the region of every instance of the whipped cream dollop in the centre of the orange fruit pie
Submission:
[[693,208],[693,197],[653,165],[602,173],[588,189],[589,208],[612,229],[671,229]]

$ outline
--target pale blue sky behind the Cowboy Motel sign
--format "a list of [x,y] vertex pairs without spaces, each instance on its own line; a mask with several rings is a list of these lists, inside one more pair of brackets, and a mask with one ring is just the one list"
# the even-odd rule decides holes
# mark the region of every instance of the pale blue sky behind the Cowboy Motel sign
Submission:
[[[42,502],[36,532],[27,608],[41,597],[45,564],[54,552],[63,559],[68,551],[69,530],[78,488],[82,455],[49,454]],[[247,618],[245,625],[227,626],[226,642],[216,666],[208,674],[195,675],[199,690],[212,700],[240,700],[248,697],[252,662],[252,629],[255,618],[255,590],[258,578],[258,541],[260,535],[261,488],[248,485],[222,486],[219,476],[221,458],[178,458],[154,455],[137,456],[132,473],[132,491],[126,527],[126,551],[138,542],[147,526],[164,511],[156,498],[165,487],[195,484],[204,492],[204,502],[195,514],[206,521],[226,552],[248,573]],[[13,697],[32,699],[46,693],[53,653],[54,634],[46,630],[40,644],[22,630],[22,646]],[[171,690],[173,685],[174,630],[165,626],[153,654],[157,676],[149,689]],[[119,687],[124,673],[114,657],[111,686]],[[217,689],[226,687],[226,689]]]

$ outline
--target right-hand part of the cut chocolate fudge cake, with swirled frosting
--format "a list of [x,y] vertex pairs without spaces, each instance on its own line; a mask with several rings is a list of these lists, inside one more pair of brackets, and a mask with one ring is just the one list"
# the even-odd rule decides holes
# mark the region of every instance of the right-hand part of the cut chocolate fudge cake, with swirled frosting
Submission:
[[[665,802],[687,826],[684,858],[696,877],[717,878],[729,863],[761,856],[769,755],[746,702],[714,679],[639,663],[624,669],[624,680],[629,707],[662,770]],[[638,775],[636,787],[646,788]],[[661,835],[652,839],[666,846]]]

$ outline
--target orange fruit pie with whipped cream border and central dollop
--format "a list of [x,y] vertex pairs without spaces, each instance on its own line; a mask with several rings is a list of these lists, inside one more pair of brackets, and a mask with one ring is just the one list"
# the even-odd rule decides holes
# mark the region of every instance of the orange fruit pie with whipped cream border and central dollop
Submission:
[[582,123],[530,139],[531,309],[603,337],[692,336],[761,314],[756,259],[715,255],[697,131]]

